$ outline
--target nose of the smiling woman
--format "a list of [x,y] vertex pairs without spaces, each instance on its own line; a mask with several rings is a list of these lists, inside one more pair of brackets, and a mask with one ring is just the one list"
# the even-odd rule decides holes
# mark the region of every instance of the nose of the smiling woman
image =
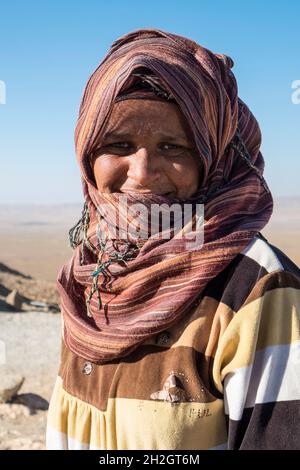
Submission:
[[130,157],[128,177],[142,186],[157,181],[159,178],[159,166],[157,158],[146,147],[140,148]]

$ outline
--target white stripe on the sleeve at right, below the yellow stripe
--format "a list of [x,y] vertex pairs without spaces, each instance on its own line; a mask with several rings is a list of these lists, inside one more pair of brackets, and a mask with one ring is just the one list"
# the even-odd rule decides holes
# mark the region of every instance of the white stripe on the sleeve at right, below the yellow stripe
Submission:
[[258,351],[253,365],[225,377],[224,390],[225,413],[237,421],[256,403],[300,400],[300,341]]

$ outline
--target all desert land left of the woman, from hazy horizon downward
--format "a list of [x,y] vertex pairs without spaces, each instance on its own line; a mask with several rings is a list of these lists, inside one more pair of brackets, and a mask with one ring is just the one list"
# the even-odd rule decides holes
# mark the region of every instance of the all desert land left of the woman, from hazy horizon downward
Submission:
[[60,350],[55,281],[81,210],[0,205],[0,449],[45,448]]

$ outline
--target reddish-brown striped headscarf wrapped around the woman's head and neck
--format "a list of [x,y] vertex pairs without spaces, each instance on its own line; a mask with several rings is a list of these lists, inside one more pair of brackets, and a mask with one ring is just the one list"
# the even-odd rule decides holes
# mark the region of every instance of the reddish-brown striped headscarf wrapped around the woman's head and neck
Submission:
[[[75,130],[85,205],[70,231],[74,254],[57,280],[64,338],[75,354],[105,363],[174,325],[270,219],[273,199],[263,178],[261,132],[238,97],[233,65],[230,57],[185,37],[141,29],[117,39],[89,78]],[[164,99],[180,106],[201,160],[201,185],[185,200],[205,204],[204,243],[192,250],[176,237],[140,245],[102,240],[120,193],[98,192],[91,156],[115,100],[143,68],[153,74],[154,88],[155,77],[163,84]],[[127,195],[127,202],[148,207],[173,200]],[[126,217],[119,209],[119,222]]]

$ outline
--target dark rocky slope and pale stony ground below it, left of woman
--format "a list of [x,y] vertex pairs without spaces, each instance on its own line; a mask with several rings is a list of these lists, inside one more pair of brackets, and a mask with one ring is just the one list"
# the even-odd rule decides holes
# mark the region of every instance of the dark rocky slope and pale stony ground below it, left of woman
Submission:
[[0,450],[45,448],[59,365],[59,311],[55,282],[0,263]]

